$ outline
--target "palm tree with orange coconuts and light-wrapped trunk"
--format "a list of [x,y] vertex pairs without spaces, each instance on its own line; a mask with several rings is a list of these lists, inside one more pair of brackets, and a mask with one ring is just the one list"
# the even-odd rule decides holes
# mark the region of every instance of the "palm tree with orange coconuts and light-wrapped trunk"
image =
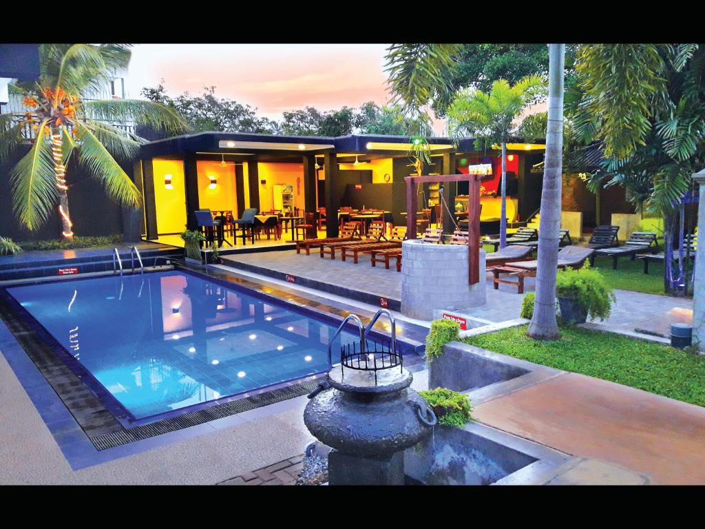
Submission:
[[13,210],[27,229],[44,224],[58,202],[62,235],[73,237],[66,166],[74,151],[111,198],[128,207],[140,206],[140,192],[114,156],[134,158],[144,140],[111,123],[186,130],[175,111],[158,103],[83,99],[105,85],[116,68],[127,66],[130,54],[128,44],[40,45],[39,80],[17,86],[27,111],[0,116],[0,162],[27,141],[23,131],[33,130],[30,151],[10,171]]

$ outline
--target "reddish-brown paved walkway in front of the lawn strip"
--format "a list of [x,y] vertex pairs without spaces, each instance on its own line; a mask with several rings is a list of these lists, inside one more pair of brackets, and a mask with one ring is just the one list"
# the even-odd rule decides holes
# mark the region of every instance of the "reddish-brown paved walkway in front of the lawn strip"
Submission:
[[486,425],[646,475],[660,485],[705,485],[705,408],[564,373],[480,403]]

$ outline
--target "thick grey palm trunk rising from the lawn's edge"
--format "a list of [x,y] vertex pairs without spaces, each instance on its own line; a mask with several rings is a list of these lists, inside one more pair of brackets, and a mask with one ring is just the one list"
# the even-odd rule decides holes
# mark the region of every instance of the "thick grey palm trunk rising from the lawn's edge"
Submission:
[[565,44],[548,44],[548,130],[544,189],[539,220],[539,262],[534,317],[527,336],[560,337],[556,322],[556,272],[560,232],[560,191],[563,183],[563,63]]

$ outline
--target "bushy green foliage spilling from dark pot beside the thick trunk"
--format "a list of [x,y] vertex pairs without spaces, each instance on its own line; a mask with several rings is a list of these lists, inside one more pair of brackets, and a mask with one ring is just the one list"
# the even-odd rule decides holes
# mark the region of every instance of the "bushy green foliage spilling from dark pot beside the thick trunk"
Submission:
[[575,298],[590,320],[605,320],[615,300],[612,288],[600,272],[585,263],[581,269],[566,268],[556,275],[556,296]]

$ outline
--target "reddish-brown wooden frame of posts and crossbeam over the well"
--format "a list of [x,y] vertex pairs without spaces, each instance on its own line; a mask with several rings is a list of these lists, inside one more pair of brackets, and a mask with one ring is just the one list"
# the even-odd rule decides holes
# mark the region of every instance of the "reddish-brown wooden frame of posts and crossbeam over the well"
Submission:
[[419,183],[426,182],[460,182],[469,181],[467,200],[467,266],[468,282],[471,285],[480,281],[480,181],[479,174],[441,174],[424,176],[407,176],[406,181],[406,237],[416,238],[416,210],[418,207],[417,189]]

